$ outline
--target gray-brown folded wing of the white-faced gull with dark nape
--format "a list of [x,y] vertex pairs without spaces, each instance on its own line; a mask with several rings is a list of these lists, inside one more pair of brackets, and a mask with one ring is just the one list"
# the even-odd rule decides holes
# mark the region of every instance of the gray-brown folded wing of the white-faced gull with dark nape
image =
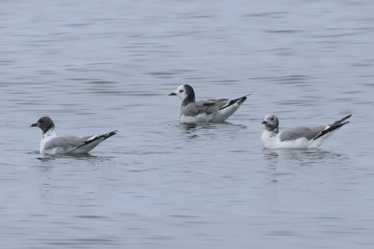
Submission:
[[212,114],[229,103],[230,99],[200,100],[182,107],[182,114],[193,117],[201,113]]

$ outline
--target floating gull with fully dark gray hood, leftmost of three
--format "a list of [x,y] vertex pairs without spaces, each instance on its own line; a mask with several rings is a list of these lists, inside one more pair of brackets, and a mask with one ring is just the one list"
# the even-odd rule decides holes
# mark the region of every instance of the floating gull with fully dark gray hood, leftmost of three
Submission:
[[38,122],[30,124],[30,127],[39,127],[43,131],[42,140],[40,141],[40,154],[79,154],[88,153],[95,148],[100,142],[117,134],[114,130],[103,135],[94,136],[56,136],[50,117],[41,117]]

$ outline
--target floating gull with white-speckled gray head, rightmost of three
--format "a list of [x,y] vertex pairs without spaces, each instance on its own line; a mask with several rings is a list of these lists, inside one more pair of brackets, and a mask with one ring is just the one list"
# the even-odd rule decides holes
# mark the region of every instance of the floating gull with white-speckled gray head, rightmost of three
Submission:
[[278,128],[278,117],[275,115],[266,115],[264,121],[261,122],[261,124],[265,124],[265,130],[262,133],[261,141],[266,149],[315,149],[341,126],[349,123],[349,121],[345,123],[343,123],[343,121],[348,119],[350,116],[352,115],[348,115],[347,117],[337,120],[329,125],[316,127],[297,126],[280,132]]

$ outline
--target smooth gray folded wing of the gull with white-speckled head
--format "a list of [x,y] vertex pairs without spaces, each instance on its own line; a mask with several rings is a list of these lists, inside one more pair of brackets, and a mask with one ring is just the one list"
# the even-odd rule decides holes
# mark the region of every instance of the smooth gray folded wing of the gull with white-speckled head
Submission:
[[325,125],[320,125],[316,127],[307,127],[307,126],[297,126],[292,127],[289,129],[284,130],[281,135],[279,136],[279,139],[281,141],[288,141],[288,140],[295,140],[298,138],[306,138],[308,140],[311,140],[318,136],[322,130],[326,129]]

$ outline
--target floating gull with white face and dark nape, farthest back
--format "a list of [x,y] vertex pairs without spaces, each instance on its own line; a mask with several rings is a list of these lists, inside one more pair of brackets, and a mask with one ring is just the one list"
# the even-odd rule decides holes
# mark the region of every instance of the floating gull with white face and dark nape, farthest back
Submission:
[[175,92],[169,93],[169,96],[172,95],[182,99],[181,123],[223,122],[243,104],[248,96],[245,95],[237,99],[207,99],[196,102],[195,92],[187,84],[181,85]]

